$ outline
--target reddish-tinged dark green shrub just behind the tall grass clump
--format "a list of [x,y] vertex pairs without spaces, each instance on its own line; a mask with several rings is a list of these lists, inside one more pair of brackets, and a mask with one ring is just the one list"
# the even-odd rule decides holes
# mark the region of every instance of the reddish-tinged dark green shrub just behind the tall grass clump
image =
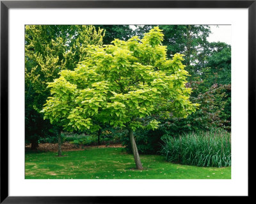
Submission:
[[[196,82],[194,82],[196,84]],[[198,82],[199,83],[199,82]],[[189,84],[196,91],[195,84]],[[159,130],[164,134],[179,136],[188,132],[209,131],[214,128],[231,130],[231,86],[214,84],[205,93],[193,93],[191,101],[199,109],[187,118],[159,119]]]

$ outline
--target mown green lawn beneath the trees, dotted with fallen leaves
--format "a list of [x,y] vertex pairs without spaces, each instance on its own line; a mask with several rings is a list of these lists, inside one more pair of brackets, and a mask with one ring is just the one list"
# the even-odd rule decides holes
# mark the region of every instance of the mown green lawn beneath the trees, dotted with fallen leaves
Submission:
[[140,155],[143,171],[124,148],[90,148],[83,151],[26,153],[26,178],[231,178],[231,168],[203,168],[172,164],[161,155]]

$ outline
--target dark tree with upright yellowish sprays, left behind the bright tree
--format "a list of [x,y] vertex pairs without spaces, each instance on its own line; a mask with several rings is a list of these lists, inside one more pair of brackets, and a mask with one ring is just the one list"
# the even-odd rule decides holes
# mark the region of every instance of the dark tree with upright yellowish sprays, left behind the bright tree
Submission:
[[58,77],[60,70],[74,70],[86,55],[87,45],[102,45],[102,29],[93,26],[30,25],[25,29],[25,136],[31,148],[39,137],[56,134],[39,111],[49,90],[47,82]]

